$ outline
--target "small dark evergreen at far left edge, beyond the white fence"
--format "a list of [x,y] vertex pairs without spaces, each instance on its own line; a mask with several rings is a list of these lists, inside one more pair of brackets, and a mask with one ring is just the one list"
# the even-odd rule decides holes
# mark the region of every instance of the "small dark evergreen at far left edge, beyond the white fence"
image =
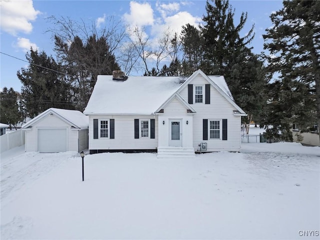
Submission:
[[7,89],[3,87],[0,92],[0,122],[16,127],[16,124],[22,120],[18,105],[18,93],[12,87]]

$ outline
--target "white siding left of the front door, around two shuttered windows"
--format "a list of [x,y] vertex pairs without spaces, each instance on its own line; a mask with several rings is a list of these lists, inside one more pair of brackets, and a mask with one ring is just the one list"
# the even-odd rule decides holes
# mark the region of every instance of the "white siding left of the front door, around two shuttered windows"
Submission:
[[[134,138],[134,119],[155,119],[155,138]],[[114,119],[114,139],[93,139],[93,119]],[[89,117],[89,149],[123,150],[123,149],[156,149],[158,121],[155,115],[90,115]]]

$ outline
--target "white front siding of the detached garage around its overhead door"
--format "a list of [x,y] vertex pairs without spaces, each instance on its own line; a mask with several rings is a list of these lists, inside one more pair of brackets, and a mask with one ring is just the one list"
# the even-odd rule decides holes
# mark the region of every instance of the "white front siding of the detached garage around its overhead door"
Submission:
[[70,128],[70,125],[55,115],[46,115],[32,124],[31,129],[25,132],[25,151],[37,151],[37,129],[38,128],[67,128],[67,150],[77,151],[78,131]]

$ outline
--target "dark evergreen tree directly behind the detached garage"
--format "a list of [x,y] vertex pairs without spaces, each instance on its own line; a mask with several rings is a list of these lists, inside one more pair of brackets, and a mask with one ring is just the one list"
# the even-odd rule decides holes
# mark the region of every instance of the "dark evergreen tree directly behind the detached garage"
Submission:
[[26,59],[28,67],[17,72],[22,83],[21,103],[26,116],[34,117],[50,107],[73,109],[70,84],[52,56],[31,48]]

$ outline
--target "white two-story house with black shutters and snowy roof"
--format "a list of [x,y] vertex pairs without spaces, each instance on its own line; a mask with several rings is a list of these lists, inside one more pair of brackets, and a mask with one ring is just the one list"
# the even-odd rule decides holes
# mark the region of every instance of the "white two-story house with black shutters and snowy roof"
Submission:
[[[241,116],[223,76],[99,75],[84,110],[90,153],[240,151]],[[206,150],[205,150],[206,145]]]

